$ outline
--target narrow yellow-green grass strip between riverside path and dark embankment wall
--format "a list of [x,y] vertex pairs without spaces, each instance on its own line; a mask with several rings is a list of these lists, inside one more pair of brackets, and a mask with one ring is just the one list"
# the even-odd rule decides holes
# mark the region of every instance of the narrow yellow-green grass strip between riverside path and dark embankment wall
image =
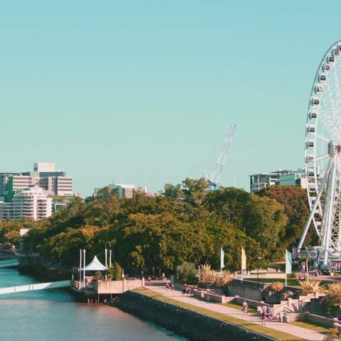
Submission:
[[136,293],[141,293],[142,295],[149,296],[153,299],[156,299],[161,302],[170,303],[173,305],[176,305],[180,308],[184,308],[187,310],[192,310],[195,313],[200,313],[202,315],[209,316],[210,318],[216,318],[217,320],[223,320],[224,322],[231,323],[232,325],[239,325],[239,327],[245,328],[247,330],[252,330],[254,332],[258,332],[259,334],[263,334],[269,337],[273,337],[274,339],[278,341],[296,341],[296,340],[305,340],[301,339],[299,337],[294,337],[293,335],[289,335],[286,332],[280,332],[278,330],[274,330],[271,328],[264,327],[263,325],[256,325],[254,323],[249,323],[248,321],[241,320],[240,318],[234,318],[233,316],[226,315],[223,313],[217,313],[215,311],[197,307],[192,304],[183,303],[177,300],[174,300],[173,298],[169,298],[166,296],[163,296],[162,294],[152,291],[146,288],[136,288],[132,291]]

